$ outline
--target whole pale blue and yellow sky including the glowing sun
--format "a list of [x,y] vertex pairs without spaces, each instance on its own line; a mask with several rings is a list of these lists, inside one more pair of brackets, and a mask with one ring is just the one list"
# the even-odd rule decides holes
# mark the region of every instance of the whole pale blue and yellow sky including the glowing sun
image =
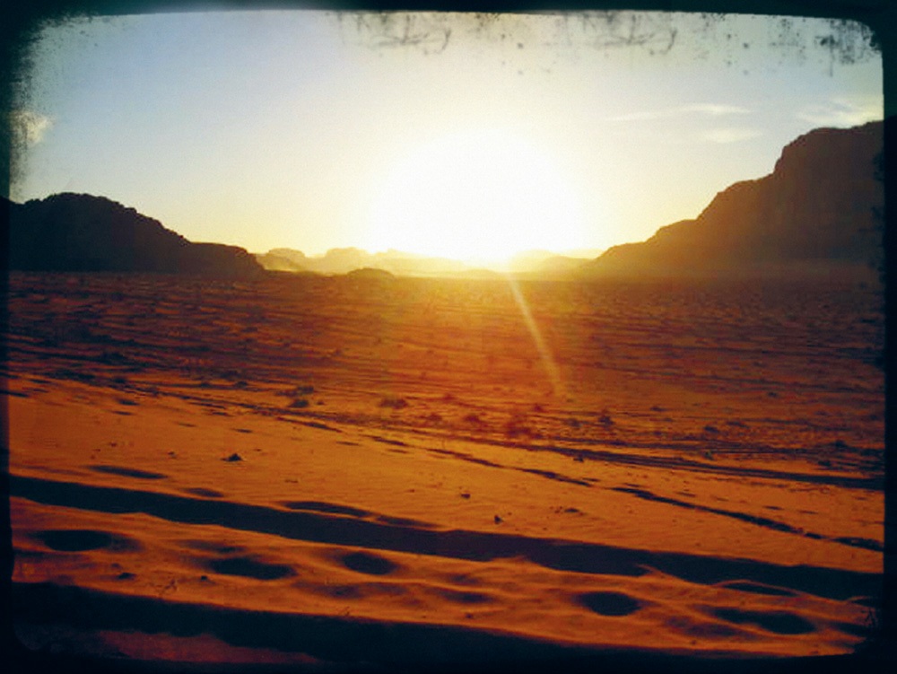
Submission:
[[799,19],[154,14],[48,27],[31,62],[14,200],[252,252],[605,249],[883,116],[867,31]]

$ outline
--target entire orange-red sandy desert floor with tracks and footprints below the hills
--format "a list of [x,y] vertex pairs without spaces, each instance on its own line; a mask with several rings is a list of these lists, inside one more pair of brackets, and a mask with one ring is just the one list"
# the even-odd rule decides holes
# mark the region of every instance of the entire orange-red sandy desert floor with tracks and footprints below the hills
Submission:
[[13,275],[22,643],[136,660],[851,652],[874,290]]

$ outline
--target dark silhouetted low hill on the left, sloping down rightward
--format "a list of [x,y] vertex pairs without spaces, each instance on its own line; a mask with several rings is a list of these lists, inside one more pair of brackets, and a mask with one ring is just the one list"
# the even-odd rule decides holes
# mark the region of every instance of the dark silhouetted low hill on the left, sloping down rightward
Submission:
[[10,209],[9,267],[24,271],[109,271],[259,276],[237,246],[192,243],[157,220],[105,197],[57,194]]

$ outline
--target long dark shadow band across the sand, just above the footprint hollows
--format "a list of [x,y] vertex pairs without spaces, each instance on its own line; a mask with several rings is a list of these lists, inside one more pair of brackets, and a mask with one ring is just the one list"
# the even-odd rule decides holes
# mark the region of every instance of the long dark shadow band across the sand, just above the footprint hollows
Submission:
[[[656,552],[548,538],[366,521],[322,512],[285,512],[230,501],[210,501],[118,487],[87,486],[37,477],[10,476],[13,496],[95,512],[142,512],[185,524],[226,522],[232,529],[369,550],[474,561],[523,557],[562,571],[641,576],[650,569],[701,584],[749,581],[782,591],[834,600],[878,595],[881,576],[817,566],[775,565],[745,559]],[[367,559],[359,564],[367,565]],[[347,563],[351,565],[352,563]]]

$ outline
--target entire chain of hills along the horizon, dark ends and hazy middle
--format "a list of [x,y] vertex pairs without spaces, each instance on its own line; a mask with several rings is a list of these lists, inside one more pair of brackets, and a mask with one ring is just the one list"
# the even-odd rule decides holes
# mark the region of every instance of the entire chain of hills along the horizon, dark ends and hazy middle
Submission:
[[[721,190],[696,218],[660,227],[594,259],[530,250],[508,271],[526,278],[865,273],[881,268],[884,122],[817,128],[787,144],[773,171]],[[61,193],[9,210],[11,270],[186,273],[250,277],[266,271],[395,276],[497,275],[457,260],[357,248],[307,256],[278,248],[250,254],[195,243],[108,197]]]

